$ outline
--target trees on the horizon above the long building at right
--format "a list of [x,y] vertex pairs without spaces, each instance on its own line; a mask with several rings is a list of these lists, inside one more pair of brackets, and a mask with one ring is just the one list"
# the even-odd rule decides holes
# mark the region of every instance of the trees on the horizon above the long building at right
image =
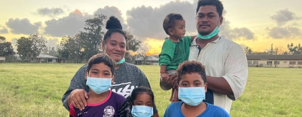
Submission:
[[300,44],[294,46],[293,43],[287,44],[287,48],[282,46],[274,47],[271,44],[271,49],[268,51],[253,51],[250,47],[243,48],[246,55],[292,55],[302,54],[302,47]]

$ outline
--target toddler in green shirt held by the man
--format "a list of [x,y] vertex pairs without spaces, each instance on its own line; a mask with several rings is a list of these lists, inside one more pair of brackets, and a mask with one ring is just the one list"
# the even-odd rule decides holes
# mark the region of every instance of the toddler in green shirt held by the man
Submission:
[[[185,36],[186,22],[180,14],[168,14],[163,23],[166,34],[162,52],[159,55],[161,78],[169,80],[169,76],[176,73],[178,65],[189,58],[190,45],[196,36]],[[178,90],[172,88],[170,101],[178,101]]]

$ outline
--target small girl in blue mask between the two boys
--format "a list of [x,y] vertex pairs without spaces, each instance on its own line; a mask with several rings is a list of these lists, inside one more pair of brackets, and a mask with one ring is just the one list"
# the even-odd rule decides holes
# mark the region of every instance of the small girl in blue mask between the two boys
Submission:
[[129,102],[134,117],[153,116],[154,94],[148,87],[134,88]]

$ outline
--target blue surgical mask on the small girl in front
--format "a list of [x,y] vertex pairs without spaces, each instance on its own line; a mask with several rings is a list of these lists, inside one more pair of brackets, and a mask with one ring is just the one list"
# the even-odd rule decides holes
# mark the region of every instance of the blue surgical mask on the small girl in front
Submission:
[[153,115],[153,107],[144,105],[133,105],[131,114],[134,117],[150,117]]

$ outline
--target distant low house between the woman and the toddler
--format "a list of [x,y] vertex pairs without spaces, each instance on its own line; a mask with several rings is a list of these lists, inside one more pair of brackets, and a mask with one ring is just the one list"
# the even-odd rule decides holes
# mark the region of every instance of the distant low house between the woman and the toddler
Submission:
[[147,56],[145,61],[143,61],[142,56],[135,58],[135,65],[159,65],[159,58],[154,56]]

